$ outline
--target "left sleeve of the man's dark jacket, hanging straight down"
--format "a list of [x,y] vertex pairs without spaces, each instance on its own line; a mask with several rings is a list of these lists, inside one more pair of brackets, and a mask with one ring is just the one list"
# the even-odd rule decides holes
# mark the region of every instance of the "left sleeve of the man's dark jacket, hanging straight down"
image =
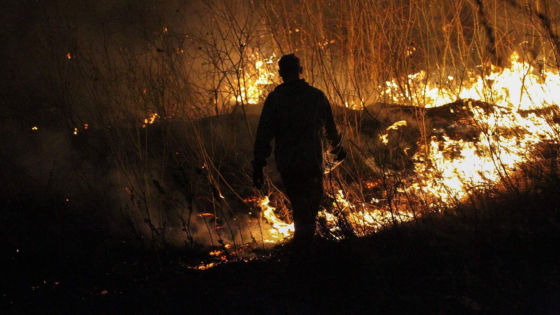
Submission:
[[253,151],[254,160],[251,161],[253,168],[264,168],[267,166],[267,158],[272,153],[270,141],[274,138],[274,112],[276,102],[274,92],[270,92],[264,101],[263,112],[260,114],[259,126],[256,128],[255,147]]

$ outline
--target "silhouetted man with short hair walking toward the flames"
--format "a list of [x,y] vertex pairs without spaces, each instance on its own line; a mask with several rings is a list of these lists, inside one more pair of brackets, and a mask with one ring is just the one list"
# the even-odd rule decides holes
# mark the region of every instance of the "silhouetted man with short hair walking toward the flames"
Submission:
[[263,185],[263,168],[274,138],[276,168],[292,204],[293,252],[298,256],[309,248],[315,233],[323,197],[324,150],[330,144],[328,149],[336,155],[335,161],[346,158],[346,151],[340,146],[342,135],[325,94],[301,78],[300,58],[284,55],[278,66],[283,83],[268,94],[260,115],[251,162],[253,184],[257,189]]

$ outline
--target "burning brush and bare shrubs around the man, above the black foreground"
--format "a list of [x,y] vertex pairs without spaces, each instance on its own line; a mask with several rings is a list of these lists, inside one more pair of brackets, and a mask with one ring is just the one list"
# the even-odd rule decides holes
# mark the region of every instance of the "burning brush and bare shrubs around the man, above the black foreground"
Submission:
[[[17,185],[52,194],[44,199],[57,224],[60,207],[103,209],[91,216],[153,249],[160,267],[172,248],[189,253],[181,263],[193,270],[275,260],[265,252],[289,243],[291,206],[272,159],[262,191],[248,174],[264,99],[281,83],[278,59],[291,52],[328,96],[349,153],[324,177],[323,240],[422,225],[560,183],[552,2],[169,5],[141,31],[41,20],[41,54],[29,58],[47,105],[18,132],[87,153],[56,169],[59,156],[36,150]],[[3,188],[14,208],[17,185]]]

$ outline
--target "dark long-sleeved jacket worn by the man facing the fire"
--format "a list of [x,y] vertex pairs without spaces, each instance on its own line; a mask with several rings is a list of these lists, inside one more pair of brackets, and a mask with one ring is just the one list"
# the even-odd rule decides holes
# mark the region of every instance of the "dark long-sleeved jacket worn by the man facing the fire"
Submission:
[[279,173],[323,174],[323,153],[337,151],[342,135],[323,91],[304,79],[278,85],[264,101],[256,130],[253,166],[264,167],[272,152]]

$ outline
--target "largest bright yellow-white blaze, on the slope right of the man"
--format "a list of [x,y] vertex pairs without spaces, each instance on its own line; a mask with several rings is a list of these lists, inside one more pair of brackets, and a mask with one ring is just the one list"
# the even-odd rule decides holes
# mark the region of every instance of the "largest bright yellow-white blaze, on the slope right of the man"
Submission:
[[[395,80],[385,82],[383,94],[396,104],[431,108],[463,100],[463,110],[480,129],[474,140],[454,140],[445,133],[428,139],[427,146],[413,156],[418,179],[401,191],[430,196],[431,204],[461,200],[473,187],[499,182],[503,172],[527,161],[527,152],[539,143],[554,140],[560,126],[538,113],[543,107],[559,109],[560,99],[554,91],[560,89],[560,76],[554,70],[535,70],[517,53],[510,56],[508,66],[490,65],[487,73],[469,72],[469,77],[457,83],[460,80],[454,76],[444,75],[447,80],[441,80],[437,73],[421,71],[408,76],[410,90],[400,89],[402,85]],[[492,110],[470,100],[482,100]],[[470,121],[460,119],[458,123]],[[386,137],[382,140],[387,141]]]

